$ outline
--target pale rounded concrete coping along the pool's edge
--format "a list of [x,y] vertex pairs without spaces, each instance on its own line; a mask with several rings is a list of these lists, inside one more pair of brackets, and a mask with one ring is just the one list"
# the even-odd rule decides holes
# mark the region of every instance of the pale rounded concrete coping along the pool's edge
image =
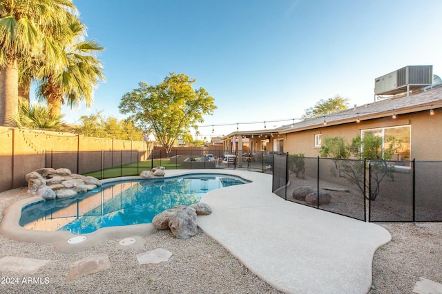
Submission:
[[[247,178],[244,176],[244,174],[238,174],[234,170],[220,169],[169,169],[166,170],[166,175],[164,177],[155,177],[152,179],[173,178],[188,174],[229,174],[233,176],[240,176],[246,180],[251,180],[251,178]],[[102,184],[107,184],[109,182],[119,182],[124,180],[144,179],[140,176],[126,176],[100,180],[100,182],[102,182]],[[209,191],[207,193],[211,192],[212,191]],[[68,240],[79,235],[75,235],[69,231],[33,231],[19,225],[23,207],[40,200],[42,200],[41,197],[32,196],[30,198],[19,200],[11,204],[9,207],[6,207],[6,209],[3,210],[3,219],[0,222],[0,234],[6,238],[22,242],[52,243],[57,253],[70,254],[90,249],[97,244],[106,242],[107,240],[128,238],[133,236],[145,237],[146,235],[151,235],[157,231],[153,224],[131,224],[127,226],[105,227],[97,229],[97,231],[93,231],[92,233],[81,234],[82,236],[86,236],[86,240],[84,240],[84,242],[71,244],[68,243]]]

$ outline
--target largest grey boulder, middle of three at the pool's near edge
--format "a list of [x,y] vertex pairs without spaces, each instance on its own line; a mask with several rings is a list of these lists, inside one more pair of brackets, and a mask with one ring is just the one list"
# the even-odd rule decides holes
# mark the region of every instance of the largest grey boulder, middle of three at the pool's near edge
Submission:
[[198,233],[195,209],[184,207],[169,216],[169,229],[178,239],[189,239]]

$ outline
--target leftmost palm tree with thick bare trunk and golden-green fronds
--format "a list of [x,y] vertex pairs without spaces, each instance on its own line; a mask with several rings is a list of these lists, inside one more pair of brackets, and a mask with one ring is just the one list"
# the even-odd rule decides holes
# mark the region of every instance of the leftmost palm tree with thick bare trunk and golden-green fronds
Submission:
[[70,0],[4,0],[0,2],[0,125],[15,125],[19,109],[19,63],[44,60],[57,65],[55,38],[66,34],[75,18]]

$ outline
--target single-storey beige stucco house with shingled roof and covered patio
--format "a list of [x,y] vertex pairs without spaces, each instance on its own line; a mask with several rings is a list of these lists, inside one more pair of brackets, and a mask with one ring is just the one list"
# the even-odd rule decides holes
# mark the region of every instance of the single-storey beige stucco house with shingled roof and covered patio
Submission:
[[316,157],[325,136],[342,136],[350,141],[367,133],[400,139],[401,149],[396,151],[394,160],[442,160],[442,85],[355,105],[278,129],[233,132],[223,140],[224,149],[231,149],[233,137],[238,141],[245,137],[249,138],[251,151],[283,151]]

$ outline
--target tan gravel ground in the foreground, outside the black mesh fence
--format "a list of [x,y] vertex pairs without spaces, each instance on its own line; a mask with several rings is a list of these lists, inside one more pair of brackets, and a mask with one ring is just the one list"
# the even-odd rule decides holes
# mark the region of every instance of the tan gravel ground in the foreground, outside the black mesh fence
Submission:
[[[24,190],[0,193],[0,218],[12,202],[28,197]],[[419,277],[442,283],[442,223],[382,223],[392,242],[376,251],[369,293],[412,293]],[[0,293],[280,293],[260,280],[220,244],[202,231],[179,240],[170,231],[145,238],[143,249],[118,249],[109,240],[81,253],[55,253],[52,244],[17,242],[0,236],[0,258],[17,256],[51,260],[34,275],[1,272],[6,277],[41,277],[47,284],[0,284]],[[163,248],[168,262],[144,264],[135,255]],[[111,269],[66,282],[69,264],[106,253]],[[320,289],[318,289],[320,293]]]

